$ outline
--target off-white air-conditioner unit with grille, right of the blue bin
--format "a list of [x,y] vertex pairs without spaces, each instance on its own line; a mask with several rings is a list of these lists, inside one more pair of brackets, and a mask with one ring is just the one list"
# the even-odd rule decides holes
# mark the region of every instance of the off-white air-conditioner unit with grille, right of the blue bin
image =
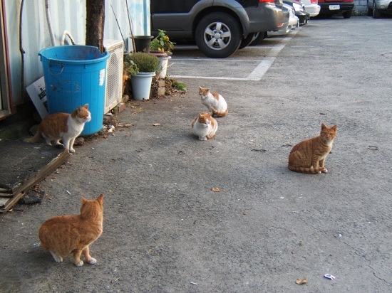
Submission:
[[120,40],[105,40],[103,46],[110,53],[106,75],[105,113],[112,110],[123,97],[124,43]]

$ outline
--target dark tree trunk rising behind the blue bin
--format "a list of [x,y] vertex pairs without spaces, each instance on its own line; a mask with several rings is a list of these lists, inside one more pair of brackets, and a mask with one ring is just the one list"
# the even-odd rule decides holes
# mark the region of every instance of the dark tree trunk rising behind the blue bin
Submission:
[[103,28],[105,26],[105,0],[86,0],[86,45],[103,48]]

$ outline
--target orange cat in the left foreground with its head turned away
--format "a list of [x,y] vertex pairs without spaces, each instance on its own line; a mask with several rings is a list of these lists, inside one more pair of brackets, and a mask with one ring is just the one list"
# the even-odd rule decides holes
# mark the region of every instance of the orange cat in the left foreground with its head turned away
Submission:
[[93,243],[103,229],[103,194],[93,200],[82,197],[80,215],[61,215],[50,218],[39,228],[39,240],[43,249],[49,250],[56,262],[72,253],[73,263],[81,267],[83,252],[85,260],[96,264],[97,260],[90,255],[88,245]]

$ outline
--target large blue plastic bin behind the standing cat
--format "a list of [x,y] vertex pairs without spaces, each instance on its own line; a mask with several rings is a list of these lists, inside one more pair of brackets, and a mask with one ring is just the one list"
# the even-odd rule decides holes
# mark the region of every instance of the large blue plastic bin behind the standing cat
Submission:
[[41,50],[49,114],[72,113],[88,104],[91,121],[81,135],[99,132],[105,111],[106,63],[109,53],[93,46],[57,46]]

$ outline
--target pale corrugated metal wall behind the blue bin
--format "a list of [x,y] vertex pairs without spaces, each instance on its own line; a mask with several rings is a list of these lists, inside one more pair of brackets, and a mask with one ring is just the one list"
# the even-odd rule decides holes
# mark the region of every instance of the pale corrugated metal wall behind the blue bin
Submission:
[[[5,0],[5,3],[12,95],[14,103],[17,105],[24,102],[21,95],[21,53],[19,51],[21,0]],[[69,31],[76,43],[84,44],[86,36],[86,0],[51,0],[48,3],[56,45],[60,45],[63,31]],[[150,35],[150,1],[128,0],[128,5],[134,35]],[[124,38],[130,36],[126,1],[105,0],[104,38],[121,40],[120,30]],[[22,47],[26,52],[24,54],[24,87],[26,87],[43,75],[38,51],[52,46],[46,20],[45,0],[24,1],[21,36]],[[67,41],[69,41],[69,38],[66,38],[66,43]]]

